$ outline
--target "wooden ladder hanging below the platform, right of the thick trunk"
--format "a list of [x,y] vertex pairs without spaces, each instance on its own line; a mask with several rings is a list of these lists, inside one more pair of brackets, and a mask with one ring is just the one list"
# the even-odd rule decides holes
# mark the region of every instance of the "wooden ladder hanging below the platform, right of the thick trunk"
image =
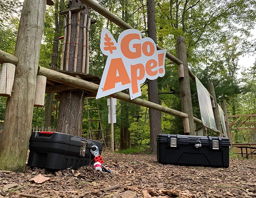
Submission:
[[[106,146],[106,142],[105,142],[105,139],[104,139],[104,130],[102,129],[101,120],[100,120],[100,111],[99,111],[98,101],[96,100],[97,108],[89,108],[89,102],[88,102],[89,99],[96,99],[96,97],[87,97],[87,98],[85,98],[86,105],[87,105],[87,113],[88,113],[90,139],[93,139],[95,141],[103,141],[105,146]],[[97,111],[98,119],[91,119],[90,118],[90,111]],[[98,126],[99,126],[100,129],[98,129],[98,130],[92,129],[92,122],[98,122],[99,123]],[[101,139],[95,139],[94,138],[94,132],[101,132],[102,138]],[[107,148],[107,146],[106,146],[106,148]]]

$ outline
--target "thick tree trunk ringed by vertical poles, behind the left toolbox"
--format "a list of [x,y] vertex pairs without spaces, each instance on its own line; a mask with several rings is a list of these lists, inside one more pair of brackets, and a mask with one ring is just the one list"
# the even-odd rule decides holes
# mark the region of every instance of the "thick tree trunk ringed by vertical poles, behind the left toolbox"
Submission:
[[[80,1],[70,1],[69,8],[72,7],[82,7],[83,3]],[[85,6],[85,12],[89,13],[89,8]],[[83,26],[85,12],[80,12],[80,25]],[[78,12],[71,13],[71,24],[77,24]],[[71,43],[76,43],[76,25],[71,26]],[[67,31],[67,37],[69,36],[69,31]],[[79,28],[79,39],[78,43],[83,43],[83,28]],[[75,49],[76,45],[69,45],[69,63],[65,65],[66,70],[74,71],[74,61],[75,61]],[[67,47],[66,47],[67,48]],[[66,54],[67,49],[65,50]],[[66,56],[66,55],[65,55]],[[66,57],[64,58],[64,63],[66,63]],[[77,67],[76,71],[81,72],[83,65],[83,45],[78,45],[78,56],[77,56]],[[80,78],[76,75],[77,78]],[[84,105],[84,92],[83,91],[67,91],[62,92],[60,97],[59,105],[59,116],[57,123],[57,131],[72,135],[81,136],[82,135],[82,123],[83,123],[83,105]]]

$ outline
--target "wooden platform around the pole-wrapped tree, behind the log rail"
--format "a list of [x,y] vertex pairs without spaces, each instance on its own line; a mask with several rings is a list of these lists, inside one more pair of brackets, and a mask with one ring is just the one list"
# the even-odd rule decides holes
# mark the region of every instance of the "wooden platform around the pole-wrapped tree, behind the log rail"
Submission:
[[[73,77],[77,77],[89,82],[93,82],[97,85],[100,84],[100,77],[96,76],[96,75],[90,75],[90,74],[85,74],[85,73],[79,73],[79,72],[71,72],[71,71],[62,71],[59,70],[58,72],[60,73],[64,73],[66,75],[71,75]],[[65,91],[76,91],[76,90],[81,90],[77,87],[72,87],[69,85],[64,85],[62,83],[59,82],[54,82],[52,80],[48,80],[46,82],[46,90],[45,93],[60,93],[60,92],[65,92]],[[94,92],[89,92],[89,91],[85,91],[83,90],[86,94],[85,97],[95,97],[97,93]],[[58,97],[55,97],[55,99],[58,99]]]

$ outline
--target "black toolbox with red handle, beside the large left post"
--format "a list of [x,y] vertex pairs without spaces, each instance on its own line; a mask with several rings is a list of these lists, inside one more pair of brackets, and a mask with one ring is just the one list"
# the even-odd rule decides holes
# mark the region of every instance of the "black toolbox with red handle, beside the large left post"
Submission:
[[[78,169],[94,162],[90,148],[102,143],[59,132],[32,132],[29,140],[28,166],[53,170]],[[95,150],[95,149],[94,149]]]

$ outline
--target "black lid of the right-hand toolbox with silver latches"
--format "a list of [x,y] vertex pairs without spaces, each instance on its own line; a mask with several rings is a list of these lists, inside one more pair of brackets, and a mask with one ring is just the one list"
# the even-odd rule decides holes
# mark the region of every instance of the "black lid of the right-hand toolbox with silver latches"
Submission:
[[230,146],[230,141],[226,137],[212,137],[212,136],[191,136],[180,134],[159,134],[156,141],[160,143],[167,143],[168,146],[178,147],[180,144],[197,144],[201,143],[202,146]]

